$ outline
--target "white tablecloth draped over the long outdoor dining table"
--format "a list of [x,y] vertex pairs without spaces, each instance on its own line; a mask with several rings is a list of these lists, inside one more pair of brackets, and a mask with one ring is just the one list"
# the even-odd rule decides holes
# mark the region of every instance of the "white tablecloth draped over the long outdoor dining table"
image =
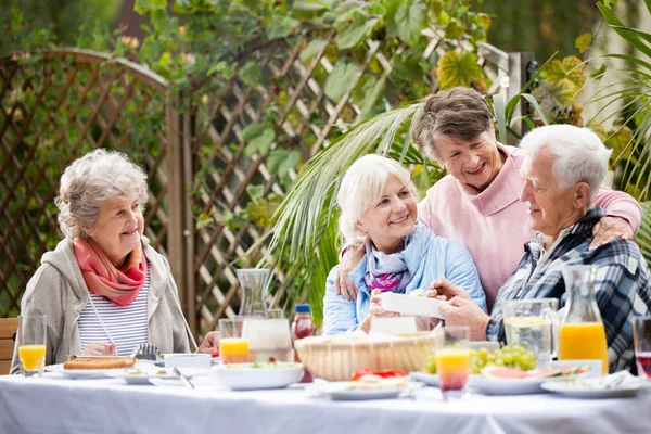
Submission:
[[331,401],[301,388],[231,392],[215,384],[0,376],[1,433],[651,433],[651,393],[623,399],[554,395]]

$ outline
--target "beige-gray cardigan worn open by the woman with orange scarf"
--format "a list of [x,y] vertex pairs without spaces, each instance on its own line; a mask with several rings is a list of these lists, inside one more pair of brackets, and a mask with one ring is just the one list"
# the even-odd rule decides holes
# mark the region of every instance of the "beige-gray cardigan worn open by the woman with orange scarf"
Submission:
[[[143,243],[144,256],[150,263],[148,341],[163,354],[188,353],[187,323],[169,263],[144,238]],[[68,355],[81,354],[78,320],[90,296],[71,239],[65,238],[53,252],[46,253],[41,263],[27,283],[21,314],[48,316],[46,365],[62,363]],[[11,373],[18,372],[18,367],[16,345]]]

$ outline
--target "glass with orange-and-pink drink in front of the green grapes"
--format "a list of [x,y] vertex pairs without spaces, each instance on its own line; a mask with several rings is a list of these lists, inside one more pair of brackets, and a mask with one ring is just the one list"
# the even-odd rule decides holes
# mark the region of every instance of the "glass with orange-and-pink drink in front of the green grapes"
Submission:
[[447,326],[435,334],[436,371],[443,398],[461,398],[470,375],[470,329]]

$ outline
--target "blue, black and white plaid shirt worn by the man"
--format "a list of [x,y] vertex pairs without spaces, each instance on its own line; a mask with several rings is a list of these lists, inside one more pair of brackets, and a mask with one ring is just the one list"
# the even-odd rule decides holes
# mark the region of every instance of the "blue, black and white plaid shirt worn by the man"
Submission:
[[564,265],[598,266],[596,297],[608,340],[610,371],[628,369],[633,361],[633,318],[649,315],[651,280],[649,267],[633,241],[615,240],[593,251],[592,227],[605,215],[601,208],[590,209],[575,225],[563,230],[549,252],[540,240],[524,245],[525,254],[507,283],[499,290],[486,328],[489,340],[505,341],[502,303],[515,298],[559,299],[565,304]]

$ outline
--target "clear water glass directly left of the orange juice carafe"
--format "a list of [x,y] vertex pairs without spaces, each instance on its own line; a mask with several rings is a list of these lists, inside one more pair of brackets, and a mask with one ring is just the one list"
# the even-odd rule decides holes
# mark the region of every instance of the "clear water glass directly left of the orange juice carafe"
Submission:
[[539,369],[549,368],[557,354],[558,310],[556,298],[510,299],[503,306],[507,343],[532,352]]

